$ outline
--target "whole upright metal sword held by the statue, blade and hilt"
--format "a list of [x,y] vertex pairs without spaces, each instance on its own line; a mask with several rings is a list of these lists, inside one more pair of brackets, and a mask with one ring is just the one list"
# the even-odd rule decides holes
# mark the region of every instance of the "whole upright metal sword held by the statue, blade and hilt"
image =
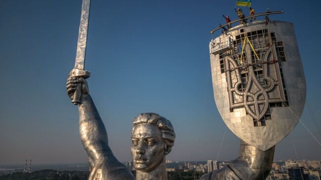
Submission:
[[[90,76],[90,72],[85,71],[85,56],[86,56],[90,4],[91,4],[91,0],[83,0],[79,34],[78,34],[75,68],[71,70],[71,72],[69,73],[69,76],[71,77],[83,77],[86,79]],[[81,83],[78,83],[77,89],[74,95],[72,96],[72,103],[74,105],[78,105],[80,104],[80,99],[81,99]]]

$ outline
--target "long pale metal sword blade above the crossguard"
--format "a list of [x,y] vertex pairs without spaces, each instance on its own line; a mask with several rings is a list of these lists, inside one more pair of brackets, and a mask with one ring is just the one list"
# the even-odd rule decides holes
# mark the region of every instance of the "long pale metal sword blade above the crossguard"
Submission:
[[83,0],[80,18],[75,68],[85,69],[86,44],[91,0]]

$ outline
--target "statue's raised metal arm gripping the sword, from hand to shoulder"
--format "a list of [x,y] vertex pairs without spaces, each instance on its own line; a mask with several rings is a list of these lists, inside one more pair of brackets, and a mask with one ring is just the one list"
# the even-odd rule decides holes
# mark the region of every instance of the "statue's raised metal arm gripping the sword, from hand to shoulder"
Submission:
[[77,85],[81,88],[79,133],[88,154],[91,173],[89,180],[135,180],[125,165],[118,161],[108,145],[105,126],[89,94],[87,81],[82,77],[67,79],[67,94],[72,99]]

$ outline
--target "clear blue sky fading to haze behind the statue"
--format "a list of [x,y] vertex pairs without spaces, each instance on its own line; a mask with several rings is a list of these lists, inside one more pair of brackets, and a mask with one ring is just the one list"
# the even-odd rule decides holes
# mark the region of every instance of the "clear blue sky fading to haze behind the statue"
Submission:
[[[0,0],[0,165],[25,159],[87,162],[78,108],[65,87],[74,67],[81,3]],[[257,13],[283,10],[270,19],[294,24],[307,104],[320,126],[321,1],[253,0],[252,5]],[[234,7],[235,0],[92,0],[88,83],[120,161],[131,161],[132,120],[141,112],[172,122],[176,140],[167,159],[238,156],[240,140],[215,105],[208,48],[209,32],[225,22],[222,14],[237,18]],[[248,14],[247,8],[243,11]],[[321,142],[307,107],[301,121]],[[276,145],[275,160],[289,158],[321,159],[321,145],[301,123]]]

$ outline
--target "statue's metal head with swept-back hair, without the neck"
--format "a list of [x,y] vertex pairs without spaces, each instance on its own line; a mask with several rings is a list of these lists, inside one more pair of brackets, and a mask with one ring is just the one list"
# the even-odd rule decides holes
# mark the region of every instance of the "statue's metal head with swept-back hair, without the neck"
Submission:
[[133,120],[132,157],[138,171],[157,168],[171,152],[175,141],[172,123],[156,113],[141,113]]

